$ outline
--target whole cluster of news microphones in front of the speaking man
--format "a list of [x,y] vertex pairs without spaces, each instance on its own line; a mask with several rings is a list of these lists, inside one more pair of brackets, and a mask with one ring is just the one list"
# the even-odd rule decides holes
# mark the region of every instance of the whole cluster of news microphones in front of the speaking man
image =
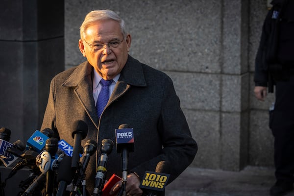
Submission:
[[[0,179],[0,195],[4,196],[7,180],[17,171],[28,167],[30,175],[22,180],[19,187],[23,189],[18,196],[88,196],[86,191],[86,169],[91,156],[97,151],[98,144],[94,140],[86,141],[84,147],[81,141],[88,134],[88,126],[83,121],[73,123],[73,147],[65,140],[53,137],[53,130],[46,128],[36,130],[27,140],[26,145],[20,140],[10,143],[11,131],[0,128],[0,165],[12,167],[4,182]],[[115,130],[117,153],[122,158],[122,187],[118,196],[126,196],[128,175],[128,154],[134,151],[134,132],[128,124],[122,124]],[[91,196],[108,196],[105,188],[108,155],[112,152],[114,142],[103,139],[99,146],[99,159],[95,184]],[[157,196],[164,191],[169,178],[169,164],[165,161],[158,163],[155,172],[146,171],[142,177],[140,188],[144,196]]]

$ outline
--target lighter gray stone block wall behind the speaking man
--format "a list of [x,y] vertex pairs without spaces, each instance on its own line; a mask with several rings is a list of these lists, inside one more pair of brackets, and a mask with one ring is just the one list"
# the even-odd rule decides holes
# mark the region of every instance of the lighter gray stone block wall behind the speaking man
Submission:
[[[248,164],[272,166],[272,138],[261,124],[267,121],[268,102],[259,103],[252,94],[266,3],[65,0],[66,68],[85,60],[77,45],[85,15],[94,9],[112,9],[132,35],[130,54],[172,77],[199,145],[192,166],[232,171]],[[270,153],[265,154],[265,149]]]

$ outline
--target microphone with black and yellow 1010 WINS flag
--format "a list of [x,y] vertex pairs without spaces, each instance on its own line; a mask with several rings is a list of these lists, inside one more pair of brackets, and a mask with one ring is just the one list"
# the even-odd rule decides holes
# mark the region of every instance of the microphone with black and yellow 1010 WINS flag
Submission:
[[168,161],[160,161],[155,172],[146,171],[140,184],[142,196],[160,196],[168,183],[170,172],[171,165]]

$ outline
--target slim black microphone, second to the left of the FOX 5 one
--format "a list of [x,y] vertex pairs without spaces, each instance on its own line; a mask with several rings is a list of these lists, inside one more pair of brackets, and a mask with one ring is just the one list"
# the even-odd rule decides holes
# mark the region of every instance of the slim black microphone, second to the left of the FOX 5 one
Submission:
[[[75,176],[73,178],[74,187],[72,189],[71,196],[75,196],[75,193],[77,191],[77,186],[81,184],[82,180],[85,178],[85,171],[89,164],[90,157],[96,152],[96,150],[97,150],[96,141],[88,140],[84,146],[84,154],[83,154],[83,159],[81,163],[81,168],[79,172],[75,173]],[[83,191],[84,191],[84,186],[83,186]],[[86,195],[86,194],[83,193],[83,195]]]

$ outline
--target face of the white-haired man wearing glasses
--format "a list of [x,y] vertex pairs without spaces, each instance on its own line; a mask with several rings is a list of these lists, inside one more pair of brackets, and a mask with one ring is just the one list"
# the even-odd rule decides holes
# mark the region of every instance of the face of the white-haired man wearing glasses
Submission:
[[[110,43],[110,45],[109,45]],[[104,44],[101,48],[101,44]],[[126,63],[131,36],[123,37],[120,24],[114,20],[98,21],[86,29],[79,49],[103,79],[113,79]],[[116,48],[115,48],[116,47]]]

